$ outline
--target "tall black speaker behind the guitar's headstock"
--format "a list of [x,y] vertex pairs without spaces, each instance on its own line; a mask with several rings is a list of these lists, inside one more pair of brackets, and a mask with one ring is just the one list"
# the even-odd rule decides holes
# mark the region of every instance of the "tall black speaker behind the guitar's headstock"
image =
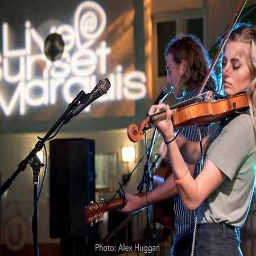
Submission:
[[50,237],[90,237],[85,205],[95,199],[94,140],[56,139],[49,148]]

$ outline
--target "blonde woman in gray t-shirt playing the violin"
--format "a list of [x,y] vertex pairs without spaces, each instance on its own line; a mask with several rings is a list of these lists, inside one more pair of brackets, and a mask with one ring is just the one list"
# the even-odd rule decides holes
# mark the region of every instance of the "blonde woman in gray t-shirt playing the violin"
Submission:
[[[198,144],[180,138],[184,143],[181,156],[169,106],[154,105],[148,112],[166,110],[166,119],[156,121],[155,126],[166,142],[177,191],[188,210],[202,206],[198,209],[195,255],[242,255],[239,230],[246,220],[255,187],[255,27],[240,27],[232,32],[224,48],[222,67],[224,92],[233,96],[246,90],[250,109],[233,118],[208,145],[203,170],[196,179],[183,158],[199,160]],[[150,201],[150,193],[147,200]]]

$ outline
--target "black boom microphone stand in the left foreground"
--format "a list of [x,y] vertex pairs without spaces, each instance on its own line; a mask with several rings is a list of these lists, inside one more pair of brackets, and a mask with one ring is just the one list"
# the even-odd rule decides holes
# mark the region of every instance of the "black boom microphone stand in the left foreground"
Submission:
[[[68,105],[68,109],[65,110],[64,114],[61,115],[61,117],[57,120],[57,122],[52,126],[52,128],[48,131],[48,133],[44,136],[44,138],[39,138],[39,141],[35,144],[35,147],[31,150],[31,152],[27,155],[27,157],[22,160],[22,162],[19,163],[18,169],[14,172],[11,177],[9,177],[5,183],[0,187],[0,197],[3,195],[3,193],[6,192],[6,190],[10,187],[11,184],[13,184],[13,181],[16,176],[20,172],[23,172],[28,164],[30,164],[33,175],[34,175],[34,214],[32,217],[32,233],[33,233],[33,255],[39,256],[39,248],[38,248],[38,187],[39,187],[39,173],[40,168],[44,166],[36,155],[37,152],[42,150],[42,148],[45,146],[44,143],[48,141],[49,139],[55,137],[55,135],[59,132],[60,128],[64,124],[64,120],[66,117],[72,112],[73,109],[77,105],[80,104],[80,102],[87,97],[88,94],[86,94],[83,90],[77,96],[75,99],[71,102],[71,104]],[[68,120],[70,121],[70,120]],[[66,124],[67,122],[65,122]],[[60,126],[60,127],[59,127]],[[59,130],[51,137],[53,132],[59,127]]]

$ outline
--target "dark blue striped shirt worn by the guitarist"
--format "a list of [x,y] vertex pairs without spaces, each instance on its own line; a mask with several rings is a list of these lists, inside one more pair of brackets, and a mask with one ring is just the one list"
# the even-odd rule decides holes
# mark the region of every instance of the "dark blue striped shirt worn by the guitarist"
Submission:
[[[192,89],[188,92],[184,100],[188,100],[191,97],[196,96],[198,88]],[[207,91],[204,89],[203,92]],[[201,136],[202,138],[207,136],[218,129],[218,125],[203,125],[201,126]],[[199,130],[198,126],[190,126],[181,129],[181,134],[183,134],[189,141],[199,141]],[[200,163],[196,164],[194,178],[200,172]],[[188,212],[180,199],[179,195],[174,196],[174,216],[175,216],[175,231],[176,235],[174,237],[174,243],[180,240],[181,237],[184,237],[186,234],[193,232],[193,226],[195,224],[195,210]]]

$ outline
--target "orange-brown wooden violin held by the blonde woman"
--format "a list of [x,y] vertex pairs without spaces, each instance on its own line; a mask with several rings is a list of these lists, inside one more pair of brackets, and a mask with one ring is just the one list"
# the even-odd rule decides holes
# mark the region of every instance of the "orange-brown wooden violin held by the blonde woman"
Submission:
[[[221,121],[234,113],[242,113],[249,108],[246,93],[236,94],[221,100],[203,101],[172,108],[172,124],[174,129],[194,125],[206,125]],[[127,128],[127,135],[132,142],[138,142],[143,138],[146,130],[150,129],[156,120],[166,119],[166,110],[149,115],[139,126],[132,123]]]

